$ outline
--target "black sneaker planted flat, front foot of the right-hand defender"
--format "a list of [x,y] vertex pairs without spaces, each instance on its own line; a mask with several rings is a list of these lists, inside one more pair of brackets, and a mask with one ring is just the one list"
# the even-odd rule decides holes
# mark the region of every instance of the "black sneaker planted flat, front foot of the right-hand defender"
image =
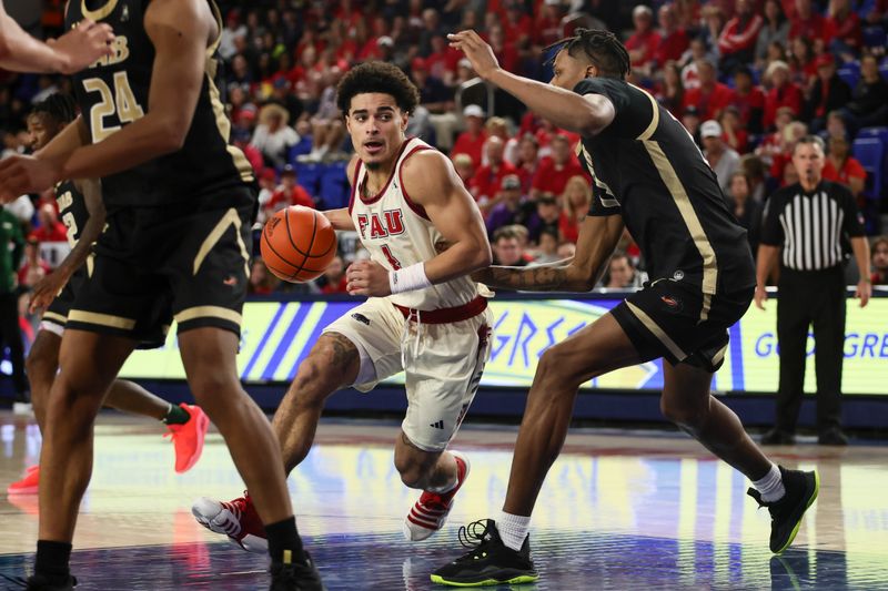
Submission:
[[521,551],[516,552],[503,543],[493,519],[473,521],[460,528],[460,543],[472,551],[433,572],[433,583],[484,587],[532,583],[539,579],[531,560],[531,537],[524,539]]

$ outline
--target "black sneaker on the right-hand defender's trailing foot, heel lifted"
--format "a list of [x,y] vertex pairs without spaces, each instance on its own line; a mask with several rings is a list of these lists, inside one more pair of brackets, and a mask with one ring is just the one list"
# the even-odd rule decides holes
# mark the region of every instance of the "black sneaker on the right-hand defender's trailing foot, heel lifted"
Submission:
[[767,507],[770,513],[770,551],[779,554],[793,543],[801,526],[801,517],[817,498],[820,490],[820,477],[817,471],[803,472],[801,470],[787,470],[783,466],[780,478],[784,481],[786,495],[773,502],[761,500],[761,495],[754,488],[746,491],[759,507]]

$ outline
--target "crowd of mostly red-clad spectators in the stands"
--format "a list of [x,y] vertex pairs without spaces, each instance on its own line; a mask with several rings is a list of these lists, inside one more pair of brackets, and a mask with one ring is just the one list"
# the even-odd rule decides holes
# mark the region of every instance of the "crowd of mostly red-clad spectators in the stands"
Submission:
[[[809,132],[827,142],[824,176],[849,186],[869,234],[881,230],[888,172],[888,129],[879,135],[888,125],[887,0],[220,4],[219,84],[232,141],[260,180],[259,223],[293,204],[343,205],[344,179],[321,182],[325,172],[344,170],[351,152],[335,86],[355,63],[379,59],[401,67],[420,89],[422,104],[407,133],[451,155],[485,217],[495,263],[572,256],[594,191],[575,155],[578,136],[481,83],[445,35],[473,28],[505,69],[547,80],[545,48],[576,27],[593,27],[622,37],[633,63],[630,82],[654,94],[695,137],[726,205],[748,228],[754,251],[763,204],[774,190],[797,180],[790,155],[796,140]],[[59,10],[53,4],[44,11],[44,33],[60,24]],[[29,150],[24,121],[31,104],[70,91],[64,78],[0,71],[3,155]],[[870,135],[882,147],[872,171],[855,157],[856,140]],[[64,227],[51,194],[22,196],[8,210],[29,245],[18,282],[33,285],[58,263],[41,259],[41,252],[53,252],[47,244],[63,244]],[[874,243],[875,283],[886,281],[886,248],[884,238]],[[356,236],[346,233],[334,264],[307,285],[280,283],[258,258],[252,292],[341,293],[347,264],[361,256]],[[644,261],[626,233],[599,286],[640,286],[645,278]]]

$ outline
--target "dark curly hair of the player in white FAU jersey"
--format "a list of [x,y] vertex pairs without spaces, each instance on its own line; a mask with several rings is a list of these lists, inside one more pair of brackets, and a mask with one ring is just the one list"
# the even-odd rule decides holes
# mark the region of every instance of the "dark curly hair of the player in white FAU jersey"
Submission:
[[352,68],[336,88],[336,106],[349,114],[352,99],[357,94],[389,94],[404,113],[412,114],[420,104],[420,91],[407,74],[391,63],[369,61]]

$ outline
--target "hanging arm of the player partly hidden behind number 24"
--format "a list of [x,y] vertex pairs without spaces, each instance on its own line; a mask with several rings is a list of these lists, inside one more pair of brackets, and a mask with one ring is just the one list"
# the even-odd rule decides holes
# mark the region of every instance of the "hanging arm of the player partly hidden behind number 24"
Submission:
[[99,234],[104,228],[105,210],[102,202],[102,183],[98,179],[89,179],[75,182],[78,188],[83,194],[89,218],[80,230],[80,240],[68,253],[59,266],[49,275],[37,282],[31,302],[28,305],[31,314],[38,308],[44,308],[52,303],[62,287],[71,279],[71,275],[83,266],[92,251],[92,244],[99,240]]

